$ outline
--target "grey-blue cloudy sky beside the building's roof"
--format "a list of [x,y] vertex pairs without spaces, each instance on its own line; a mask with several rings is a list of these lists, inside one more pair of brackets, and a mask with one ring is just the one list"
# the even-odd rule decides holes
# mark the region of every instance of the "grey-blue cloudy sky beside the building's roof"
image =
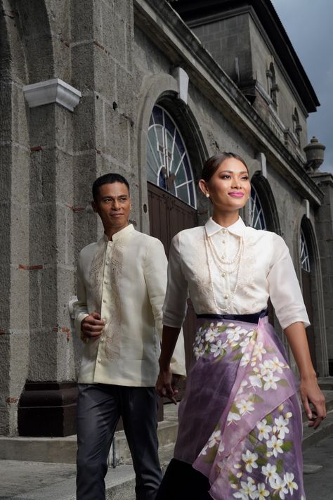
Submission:
[[320,171],[333,174],[333,1],[271,1],[320,102],[308,142],[316,136],[326,146]]

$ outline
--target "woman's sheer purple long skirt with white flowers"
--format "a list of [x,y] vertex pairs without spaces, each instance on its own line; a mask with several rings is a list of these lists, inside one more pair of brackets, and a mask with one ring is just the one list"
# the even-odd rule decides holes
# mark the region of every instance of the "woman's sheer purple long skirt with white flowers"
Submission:
[[285,347],[267,316],[233,318],[197,319],[174,457],[209,479],[215,500],[305,500],[301,407]]

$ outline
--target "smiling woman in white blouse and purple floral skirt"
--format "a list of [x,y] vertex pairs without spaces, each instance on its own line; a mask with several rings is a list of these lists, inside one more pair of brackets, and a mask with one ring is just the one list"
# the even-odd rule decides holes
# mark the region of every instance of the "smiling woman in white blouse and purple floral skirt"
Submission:
[[178,233],[169,257],[159,395],[175,402],[169,363],[188,292],[197,335],[174,459],[157,500],[303,500],[297,389],[266,315],[270,297],[299,368],[309,425],[316,428],[326,415],[325,398],[311,363],[308,315],[292,259],[280,236],[240,219],[251,193],[240,156],[209,158],[199,185],[213,217]]

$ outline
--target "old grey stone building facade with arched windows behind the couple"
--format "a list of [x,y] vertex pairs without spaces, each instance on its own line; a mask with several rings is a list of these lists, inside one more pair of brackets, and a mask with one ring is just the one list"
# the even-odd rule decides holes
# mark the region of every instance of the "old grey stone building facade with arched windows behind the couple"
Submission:
[[244,218],[285,238],[329,373],[333,178],[303,151],[315,91],[269,0],[190,4],[1,0],[2,435],[74,432],[70,303],[78,252],[101,231],[93,180],[129,179],[133,224],[167,247],[207,219],[197,181],[218,150],[249,165]]

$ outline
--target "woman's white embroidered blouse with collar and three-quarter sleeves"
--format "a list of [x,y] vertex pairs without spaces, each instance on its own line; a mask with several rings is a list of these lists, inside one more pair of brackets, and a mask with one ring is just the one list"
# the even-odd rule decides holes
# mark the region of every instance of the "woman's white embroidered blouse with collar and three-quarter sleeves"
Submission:
[[228,228],[209,219],[174,237],[164,325],[182,326],[188,292],[197,314],[251,314],[266,309],[270,297],[282,328],[310,324],[285,241],[240,218]]

